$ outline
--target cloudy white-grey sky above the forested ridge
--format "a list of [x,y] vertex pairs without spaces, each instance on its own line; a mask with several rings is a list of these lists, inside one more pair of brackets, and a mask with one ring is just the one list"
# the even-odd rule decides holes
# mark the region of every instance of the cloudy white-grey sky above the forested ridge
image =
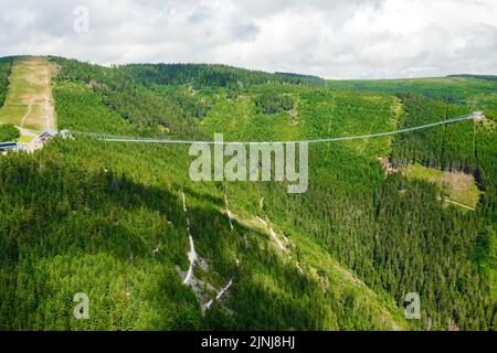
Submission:
[[326,78],[497,74],[497,0],[0,0],[0,56]]

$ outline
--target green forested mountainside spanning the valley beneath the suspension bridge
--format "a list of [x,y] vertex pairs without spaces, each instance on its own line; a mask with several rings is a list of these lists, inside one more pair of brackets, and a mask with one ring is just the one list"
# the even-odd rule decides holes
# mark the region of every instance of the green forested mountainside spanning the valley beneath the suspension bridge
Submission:
[[[474,110],[486,119],[311,145],[303,194],[279,182],[192,182],[193,159],[179,145],[75,135],[0,157],[1,330],[497,328],[494,86],[321,87],[222,65],[43,60],[57,67],[57,127],[71,131],[276,141]],[[2,79],[12,73],[0,60],[0,97],[14,89]],[[379,158],[473,175],[482,196],[472,212],[447,206],[440,185],[385,174]],[[88,295],[91,320],[73,318],[76,292]],[[408,292],[422,298],[421,320],[404,318]]]

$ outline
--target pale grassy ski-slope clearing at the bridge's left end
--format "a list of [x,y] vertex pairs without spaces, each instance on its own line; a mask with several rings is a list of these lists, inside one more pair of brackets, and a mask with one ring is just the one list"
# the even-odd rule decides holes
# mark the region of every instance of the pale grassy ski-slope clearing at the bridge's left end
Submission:
[[45,57],[19,57],[13,62],[0,124],[13,124],[21,135],[54,130],[52,76],[56,66]]

